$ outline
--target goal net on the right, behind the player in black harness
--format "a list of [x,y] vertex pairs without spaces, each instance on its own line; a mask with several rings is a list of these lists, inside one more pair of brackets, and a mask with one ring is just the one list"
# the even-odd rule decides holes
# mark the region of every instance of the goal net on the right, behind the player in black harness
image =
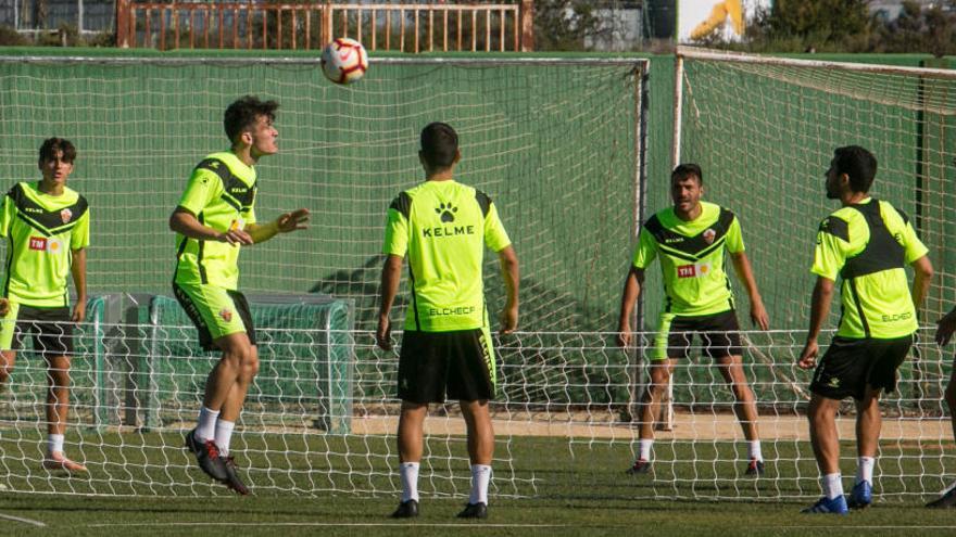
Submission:
[[[872,194],[909,215],[930,250],[936,278],[919,319],[933,325],[956,303],[952,272],[956,250],[947,240],[956,231],[952,212],[956,74],[694,49],[681,49],[678,62],[675,155],[680,162],[699,163],[707,199],[740,217],[747,255],[776,329],[745,338],[765,456],[766,446],[771,446],[769,459],[779,472],[775,487],[781,495],[796,489],[816,494],[813,453],[797,442],[806,439],[806,423],[797,417],[805,409],[810,375],[793,363],[808,324],[816,231],[820,220],[838,208],[826,197],[823,176],[838,146],[861,145],[876,155],[879,171]],[[746,295],[737,292],[744,322]],[[836,301],[827,327],[838,324]],[[649,304],[649,309],[654,306]],[[655,315],[649,311],[649,318]],[[825,334],[821,346],[829,338]],[[932,344],[929,328],[920,331],[919,342],[901,368],[897,393],[882,404],[885,421],[876,488],[884,496],[935,494],[952,483],[956,471],[942,401],[952,360],[948,351],[944,355]],[[684,418],[706,415],[709,405],[722,397],[710,392],[720,379],[707,376],[709,370],[695,373],[690,367],[683,373],[683,380],[679,372],[675,382],[677,427],[681,412]],[[841,438],[853,440],[854,409],[844,410]],[[722,418],[729,419],[726,427]],[[714,424],[735,427],[727,413]],[[844,444],[842,457],[844,475],[852,475],[856,468],[852,443]],[[789,476],[783,469],[791,471]]]

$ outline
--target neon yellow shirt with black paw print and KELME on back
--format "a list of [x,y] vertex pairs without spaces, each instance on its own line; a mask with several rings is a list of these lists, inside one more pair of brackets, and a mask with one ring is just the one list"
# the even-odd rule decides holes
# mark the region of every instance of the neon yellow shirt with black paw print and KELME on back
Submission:
[[412,305],[405,330],[450,332],[488,324],[481,265],[485,246],[511,245],[485,193],[425,181],[399,194],[388,210],[385,254],[408,255]]

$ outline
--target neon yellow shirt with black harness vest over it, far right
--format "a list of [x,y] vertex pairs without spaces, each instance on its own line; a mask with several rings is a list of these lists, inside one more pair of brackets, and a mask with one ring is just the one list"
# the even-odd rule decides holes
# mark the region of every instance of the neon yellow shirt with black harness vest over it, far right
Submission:
[[867,197],[825,218],[810,271],[843,279],[836,335],[891,340],[916,331],[905,267],[927,252],[906,215],[886,202]]

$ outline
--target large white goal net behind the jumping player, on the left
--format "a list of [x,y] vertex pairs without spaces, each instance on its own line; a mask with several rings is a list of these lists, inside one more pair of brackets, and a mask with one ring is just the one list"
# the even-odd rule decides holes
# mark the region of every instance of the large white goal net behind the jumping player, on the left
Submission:
[[[175,256],[167,219],[192,167],[226,149],[223,111],[247,93],[281,105],[280,152],[257,166],[259,219],[312,213],[307,231],[250,247],[240,261],[262,363],[231,451],[255,494],[400,488],[398,357],[374,347],[375,302],[386,212],[422,180],[418,133],[435,120],[460,132],[457,179],[494,200],[521,259],[529,332],[498,341],[492,494],[573,483],[578,451],[568,436],[590,434],[595,420],[618,421],[612,417],[633,389],[632,363],[598,331],[616,323],[639,218],[647,62],[373,59],[361,82],[342,87],[305,53],[202,54],[0,57],[0,175],[10,186],[36,179],[47,137],[76,144],[70,186],[90,202],[88,283],[100,296],[76,335],[66,434],[67,455],[89,474],[40,468],[46,366],[27,342],[0,395],[0,485],[228,494],[181,447],[216,357],[200,351],[167,297]],[[504,303],[498,272],[489,254],[490,311]],[[406,306],[402,285],[395,325]],[[615,431],[631,437],[628,424]],[[423,495],[467,494],[463,432],[455,405],[432,409]],[[613,446],[621,463],[629,446]]]

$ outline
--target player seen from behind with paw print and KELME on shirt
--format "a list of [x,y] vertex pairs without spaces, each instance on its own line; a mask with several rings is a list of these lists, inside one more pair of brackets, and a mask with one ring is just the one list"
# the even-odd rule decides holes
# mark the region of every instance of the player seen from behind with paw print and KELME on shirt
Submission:
[[494,349],[485,307],[485,247],[495,253],[507,292],[501,332],[518,323],[518,258],[498,209],[483,192],[453,179],[462,154],[458,135],[443,123],[422,131],[418,159],[425,182],[399,194],[388,209],[381,270],[378,346],[392,348],[392,308],[408,256],[412,306],[399,357],[399,462],[402,501],[397,519],[418,515],[418,464],[423,424],[430,402],[458,399],[468,430],[471,494],[462,519],[488,516],[488,484],[494,431],[488,401],[496,389]]

